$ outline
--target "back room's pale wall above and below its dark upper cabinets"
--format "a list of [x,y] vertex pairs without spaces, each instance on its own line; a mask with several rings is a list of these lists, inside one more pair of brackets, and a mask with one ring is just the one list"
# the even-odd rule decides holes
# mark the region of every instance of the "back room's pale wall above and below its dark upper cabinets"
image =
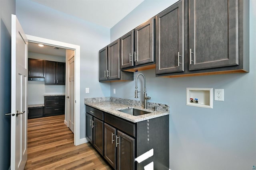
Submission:
[[[42,59],[48,61],[66,62],[66,56],[52,56],[28,52],[30,59]],[[27,103],[43,104],[45,94],[65,94],[65,85],[44,84],[44,82],[28,81]]]

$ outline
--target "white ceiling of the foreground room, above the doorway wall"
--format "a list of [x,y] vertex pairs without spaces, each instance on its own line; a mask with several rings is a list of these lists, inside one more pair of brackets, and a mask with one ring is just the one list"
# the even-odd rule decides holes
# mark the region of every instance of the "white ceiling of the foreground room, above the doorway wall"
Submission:
[[82,20],[111,28],[144,0],[32,0]]

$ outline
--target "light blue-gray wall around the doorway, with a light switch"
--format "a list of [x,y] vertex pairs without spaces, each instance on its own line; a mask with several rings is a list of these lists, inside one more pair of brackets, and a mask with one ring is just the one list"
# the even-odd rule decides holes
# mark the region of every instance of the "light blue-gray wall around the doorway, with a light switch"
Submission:
[[16,0],[16,15],[28,35],[80,45],[80,138],[84,138],[84,98],[110,96],[110,84],[98,82],[98,51],[110,43],[110,30],[30,0]]

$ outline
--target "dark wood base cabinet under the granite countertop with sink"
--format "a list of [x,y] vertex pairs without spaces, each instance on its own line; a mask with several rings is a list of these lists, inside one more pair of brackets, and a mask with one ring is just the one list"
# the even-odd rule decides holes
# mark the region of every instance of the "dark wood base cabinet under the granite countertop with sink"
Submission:
[[169,115],[133,123],[86,106],[86,138],[114,170],[169,170]]

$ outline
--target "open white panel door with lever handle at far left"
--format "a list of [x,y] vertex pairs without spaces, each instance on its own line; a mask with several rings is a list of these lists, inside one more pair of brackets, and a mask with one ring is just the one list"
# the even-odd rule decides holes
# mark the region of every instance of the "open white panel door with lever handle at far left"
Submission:
[[27,161],[28,40],[15,15],[11,56],[11,170],[23,170]]

